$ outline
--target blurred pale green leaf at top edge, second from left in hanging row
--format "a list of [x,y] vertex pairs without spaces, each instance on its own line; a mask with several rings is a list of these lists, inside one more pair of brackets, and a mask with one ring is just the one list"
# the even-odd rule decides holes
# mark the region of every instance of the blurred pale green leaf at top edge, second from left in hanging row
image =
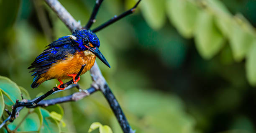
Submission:
[[198,8],[185,0],[168,0],[166,4],[169,18],[180,34],[191,38],[195,30]]

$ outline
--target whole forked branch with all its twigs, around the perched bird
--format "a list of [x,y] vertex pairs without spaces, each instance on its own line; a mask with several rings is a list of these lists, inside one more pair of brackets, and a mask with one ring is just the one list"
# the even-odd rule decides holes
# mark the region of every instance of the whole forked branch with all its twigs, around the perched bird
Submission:
[[[54,12],[57,14],[57,16],[63,21],[63,23],[69,28],[70,31],[79,30],[82,28],[80,23],[78,23],[76,20],[74,20],[72,15],[70,15],[67,12],[67,10],[59,3],[58,0],[45,0],[45,1],[51,7],[51,9],[54,10]],[[140,0],[139,0],[139,2],[140,2]],[[102,3],[102,0],[100,0],[100,3]],[[136,5],[133,7],[134,9],[138,5],[138,3],[136,3]],[[90,17],[93,19],[90,19],[90,20],[95,19],[95,16],[97,14],[97,10],[99,7],[100,7],[100,4],[97,5],[97,3],[96,3],[94,11],[92,13],[92,16]],[[118,17],[116,19],[114,18],[112,20],[109,20],[110,22],[107,22],[107,23],[113,23],[116,20],[119,20],[120,18],[123,18],[124,16],[126,16],[128,14],[131,14],[134,10],[133,8],[130,11],[128,10],[127,13],[125,12],[122,15],[120,15],[120,17]],[[92,25],[90,20],[88,22],[89,27]],[[108,25],[103,24],[103,26],[105,26],[105,27]],[[104,28],[104,27],[102,27],[102,28]],[[100,29],[102,29],[102,28],[100,28]],[[99,31],[99,30],[97,30],[97,31]],[[80,71],[82,70],[82,68],[80,69]],[[81,72],[79,72],[79,74]],[[8,120],[10,122],[13,121],[15,119],[16,115],[18,115],[18,113],[20,112],[20,110],[23,109],[23,107],[38,107],[38,106],[46,107],[49,105],[54,105],[54,104],[62,103],[62,102],[77,101],[77,100],[81,100],[84,97],[87,97],[88,95],[96,92],[97,90],[101,90],[101,92],[107,99],[111,109],[113,110],[116,118],[118,119],[118,122],[119,122],[123,132],[124,133],[134,133],[134,131],[131,129],[131,126],[129,125],[127,119],[125,118],[125,115],[123,114],[123,111],[122,111],[118,101],[116,100],[114,94],[110,90],[110,87],[108,86],[105,78],[102,76],[102,73],[101,73],[100,68],[98,67],[96,61],[95,61],[94,66],[90,70],[90,73],[91,73],[93,83],[92,83],[92,87],[90,87],[87,90],[83,90],[81,92],[76,92],[72,95],[65,96],[65,97],[58,97],[58,98],[54,98],[54,99],[50,99],[50,100],[43,100],[45,97],[47,97],[47,96],[51,95],[52,93],[59,90],[58,88],[54,87],[52,90],[46,92],[45,95],[37,97],[29,102],[18,102],[18,100],[17,100],[15,105],[13,105],[12,114],[3,123],[1,123],[0,128],[2,128],[3,125],[5,125],[5,123]],[[75,77],[75,79],[78,78],[79,74],[77,74],[77,77]],[[73,82],[73,79],[65,84],[62,84],[61,88],[68,87],[70,84],[72,84],[72,82]],[[78,87],[78,86],[73,86],[73,87]]]

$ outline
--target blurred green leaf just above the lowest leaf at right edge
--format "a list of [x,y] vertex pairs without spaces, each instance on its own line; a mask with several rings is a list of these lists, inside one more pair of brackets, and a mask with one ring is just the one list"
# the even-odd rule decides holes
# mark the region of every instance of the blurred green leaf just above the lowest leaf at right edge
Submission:
[[241,61],[248,50],[251,48],[251,45],[255,39],[255,36],[243,29],[238,23],[232,23],[232,29],[230,31],[230,46],[233,52],[235,61]]

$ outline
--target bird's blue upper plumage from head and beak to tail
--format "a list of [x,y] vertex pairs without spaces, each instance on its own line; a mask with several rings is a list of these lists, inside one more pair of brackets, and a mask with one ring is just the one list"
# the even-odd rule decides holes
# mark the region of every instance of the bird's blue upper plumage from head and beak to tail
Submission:
[[[37,56],[31,66],[28,67],[28,69],[34,68],[30,71],[34,72],[31,76],[35,76],[31,87],[36,88],[39,86],[40,83],[37,83],[37,80],[40,78],[40,74],[47,72],[53,63],[64,60],[67,58],[68,54],[74,54],[85,50],[95,51],[97,50],[95,47],[98,48],[99,46],[99,39],[95,33],[90,30],[77,30],[70,36],[63,36],[58,40],[53,41],[46,46],[48,48]],[[99,56],[100,59],[109,66],[108,62],[99,51],[96,51],[96,54],[96,56]]]

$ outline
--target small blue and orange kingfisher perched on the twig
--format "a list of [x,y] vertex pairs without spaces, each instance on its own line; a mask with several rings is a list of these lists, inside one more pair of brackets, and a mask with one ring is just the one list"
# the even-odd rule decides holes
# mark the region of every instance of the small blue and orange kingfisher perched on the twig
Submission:
[[82,65],[85,65],[82,74],[92,68],[96,57],[110,68],[108,61],[99,50],[100,40],[90,30],[76,30],[72,35],[63,36],[53,41],[36,59],[28,69],[34,72],[32,88],[37,88],[40,84],[50,79],[58,79],[60,84],[56,87],[60,90],[62,79],[73,77],[73,83],[77,84],[80,77],[75,80]]

